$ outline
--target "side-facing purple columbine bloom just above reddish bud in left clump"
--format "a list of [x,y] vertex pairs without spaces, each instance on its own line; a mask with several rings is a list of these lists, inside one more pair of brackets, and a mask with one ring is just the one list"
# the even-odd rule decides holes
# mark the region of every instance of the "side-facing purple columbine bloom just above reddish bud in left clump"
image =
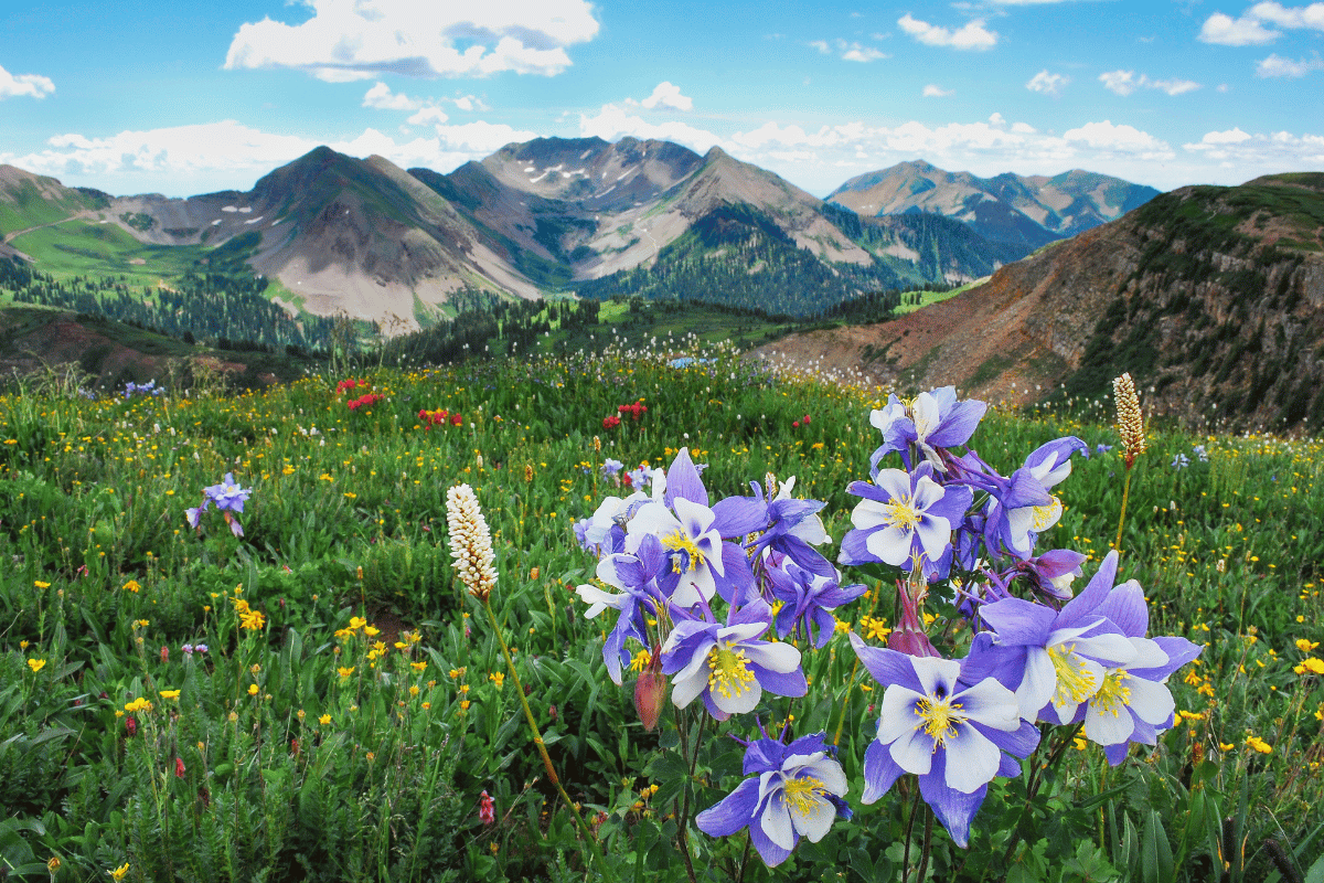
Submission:
[[653,645],[649,639],[646,614],[657,613],[661,596],[657,575],[665,565],[662,544],[655,536],[647,536],[639,544],[637,555],[608,555],[597,563],[597,579],[620,589],[620,593],[604,592],[587,584],[575,589],[580,600],[589,605],[584,613],[585,618],[592,620],[606,608],[618,613],[616,625],[602,645],[602,662],[606,663],[606,671],[617,686],[621,684],[621,666],[626,665],[632,655],[625,641],[634,638],[645,647]]

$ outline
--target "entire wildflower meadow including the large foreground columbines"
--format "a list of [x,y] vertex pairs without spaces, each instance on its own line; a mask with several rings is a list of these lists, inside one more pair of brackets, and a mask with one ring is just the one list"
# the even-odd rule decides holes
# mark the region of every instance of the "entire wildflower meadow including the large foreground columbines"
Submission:
[[[1128,471],[1112,402],[1079,408],[1091,422],[990,405],[961,462],[1010,475],[1050,450],[1051,482],[1034,474],[1059,503],[1004,537],[1037,593],[1000,601],[929,568],[922,500],[943,475],[919,462],[923,397],[674,356],[246,395],[12,389],[0,878],[1324,879],[1320,445],[1148,428]],[[890,443],[875,412],[919,429],[871,463]],[[884,492],[903,451],[911,483]],[[951,487],[929,514],[949,508],[955,537],[984,498]],[[992,544],[998,511],[974,539]],[[929,564],[892,555],[902,528]],[[1083,557],[1049,567],[1049,549]],[[728,585],[751,567],[760,597]],[[692,617],[650,606],[659,585]],[[1107,617],[1067,629],[1070,598],[1104,596]],[[1012,601],[1058,617],[1058,643],[1027,651],[1051,657],[1058,695],[1099,674],[1045,706],[1061,720],[1035,720],[1039,700],[980,718],[1038,687],[957,666],[981,605]],[[1010,614],[984,618],[1008,650]],[[886,739],[896,684],[919,696],[918,755],[891,741],[910,731]],[[1156,707],[1170,694],[1161,720],[1141,686]],[[1124,736],[1086,711],[1104,688],[1139,715]]]

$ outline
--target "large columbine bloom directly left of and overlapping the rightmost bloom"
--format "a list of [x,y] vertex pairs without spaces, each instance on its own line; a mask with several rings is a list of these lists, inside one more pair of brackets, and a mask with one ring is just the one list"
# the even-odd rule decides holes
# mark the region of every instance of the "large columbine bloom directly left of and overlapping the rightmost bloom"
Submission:
[[985,604],[980,617],[993,633],[976,635],[963,676],[997,678],[1016,691],[1026,720],[1070,721],[1103,686],[1107,670],[1125,669],[1136,658],[1103,606],[1116,575],[1113,551],[1061,610],[1022,598]]

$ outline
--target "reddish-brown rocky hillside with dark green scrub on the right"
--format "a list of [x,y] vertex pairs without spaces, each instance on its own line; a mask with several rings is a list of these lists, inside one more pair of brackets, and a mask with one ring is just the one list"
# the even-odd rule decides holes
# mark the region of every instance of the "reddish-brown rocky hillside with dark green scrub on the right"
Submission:
[[1324,428],[1324,173],[1186,187],[896,322],[763,356],[1029,401],[1129,371],[1190,425]]

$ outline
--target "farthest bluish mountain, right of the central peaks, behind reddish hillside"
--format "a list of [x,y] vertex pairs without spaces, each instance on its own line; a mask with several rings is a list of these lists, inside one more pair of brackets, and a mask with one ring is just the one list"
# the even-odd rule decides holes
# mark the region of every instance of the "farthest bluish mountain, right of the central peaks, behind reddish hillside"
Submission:
[[866,216],[933,212],[1029,253],[1116,220],[1155,196],[1158,191],[1152,187],[1082,169],[1053,177],[1010,172],[977,177],[916,160],[857,175],[828,201]]

